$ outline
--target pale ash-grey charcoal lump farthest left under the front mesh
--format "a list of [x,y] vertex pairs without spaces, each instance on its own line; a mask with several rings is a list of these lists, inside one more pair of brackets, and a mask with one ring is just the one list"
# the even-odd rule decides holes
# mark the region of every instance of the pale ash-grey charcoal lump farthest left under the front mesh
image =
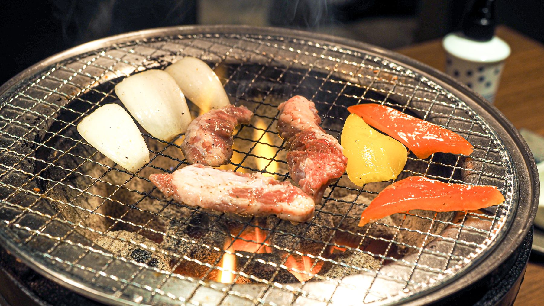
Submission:
[[[131,242],[131,240],[134,242]],[[95,243],[115,255],[170,272],[170,266],[164,254],[152,252],[150,249],[158,248],[157,243],[136,233],[130,233],[126,230],[110,232],[109,235],[96,239]],[[147,248],[141,245],[145,245]]]

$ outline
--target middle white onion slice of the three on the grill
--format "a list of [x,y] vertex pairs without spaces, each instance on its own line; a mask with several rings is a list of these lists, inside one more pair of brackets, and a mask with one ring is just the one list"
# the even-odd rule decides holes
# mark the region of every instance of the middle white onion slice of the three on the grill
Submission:
[[162,70],[133,74],[115,85],[115,93],[141,127],[160,140],[185,133],[191,122],[183,92]]

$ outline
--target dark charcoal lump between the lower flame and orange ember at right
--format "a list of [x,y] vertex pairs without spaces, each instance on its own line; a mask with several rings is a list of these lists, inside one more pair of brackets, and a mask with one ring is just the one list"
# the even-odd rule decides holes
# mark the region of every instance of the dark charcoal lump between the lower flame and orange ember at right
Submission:
[[[263,253],[255,255],[249,252],[237,253],[244,255],[244,257],[236,257],[236,269],[238,271],[244,272],[249,276],[255,276],[257,278],[262,278],[277,283],[298,283],[298,280],[293,276],[293,274],[285,270],[285,268],[280,267],[280,265],[283,263],[283,259],[277,253]],[[253,255],[253,258],[251,261],[249,261],[249,257],[251,255]],[[274,263],[276,266],[267,264],[267,262]],[[244,267],[244,265],[246,266]],[[272,279],[276,270],[278,272],[274,279]],[[251,280],[252,283],[258,283],[254,279],[249,280]]]

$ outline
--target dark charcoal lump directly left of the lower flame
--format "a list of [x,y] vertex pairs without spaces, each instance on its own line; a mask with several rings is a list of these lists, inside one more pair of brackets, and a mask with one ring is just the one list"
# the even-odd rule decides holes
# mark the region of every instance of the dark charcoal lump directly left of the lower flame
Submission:
[[[184,260],[183,256],[214,265],[222,254],[217,249],[223,249],[229,235],[222,220],[216,221],[215,217],[200,212],[185,222],[170,222],[170,229],[166,233],[168,236],[160,243],[160,248],[176,255],[171,260],[172,265],[177,264],[175,272],[194,277],[205,276],[209,268],[196,261]],[[180,260],[183,263],[179,264]]]

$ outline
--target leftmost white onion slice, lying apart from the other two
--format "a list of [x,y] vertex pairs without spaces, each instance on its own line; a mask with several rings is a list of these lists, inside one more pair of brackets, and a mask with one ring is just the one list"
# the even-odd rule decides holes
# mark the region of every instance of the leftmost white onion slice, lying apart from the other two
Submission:
[[130,172],[149,163],[149,149],[136,123],[117,104],[106,104],[83,118],[77,132],[100,153]]

